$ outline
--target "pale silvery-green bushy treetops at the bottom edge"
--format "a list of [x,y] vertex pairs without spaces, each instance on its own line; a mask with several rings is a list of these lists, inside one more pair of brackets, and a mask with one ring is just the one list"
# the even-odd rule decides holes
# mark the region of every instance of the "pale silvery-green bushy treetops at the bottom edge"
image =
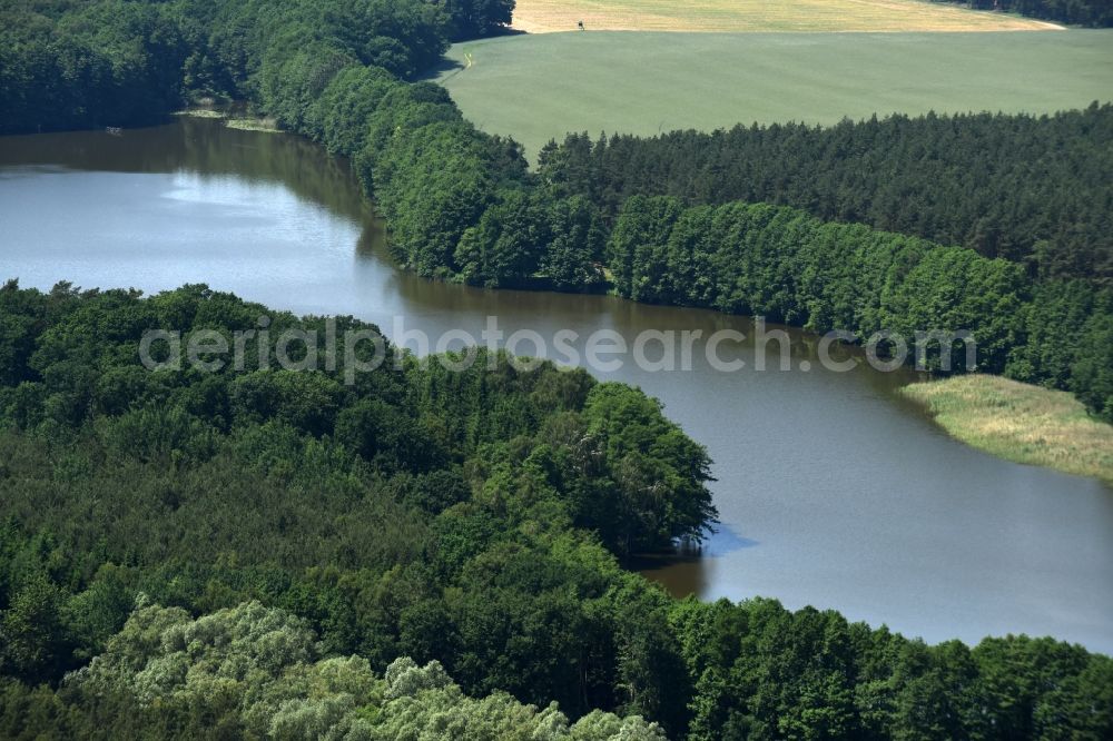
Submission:
[[555,703],[539,710],[503,692],[473,699],[436,661],[401,658],[376,673],[361,656],[323,655],[307,621],[258,602],[197,620],[141,597],[139,605],[58,694],[0,684],[4,738],[666,738],[639,717],[595,710],[570,724]]

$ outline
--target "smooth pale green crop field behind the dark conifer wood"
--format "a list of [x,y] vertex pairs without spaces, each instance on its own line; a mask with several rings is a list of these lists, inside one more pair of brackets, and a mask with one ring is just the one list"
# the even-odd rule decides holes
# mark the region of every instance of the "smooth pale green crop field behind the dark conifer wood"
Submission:
[[454,46],[435,72],[534,155],[568,131],[652,135],[874,112],[1054,112],[1113,99],[1113,31],[570,32]]

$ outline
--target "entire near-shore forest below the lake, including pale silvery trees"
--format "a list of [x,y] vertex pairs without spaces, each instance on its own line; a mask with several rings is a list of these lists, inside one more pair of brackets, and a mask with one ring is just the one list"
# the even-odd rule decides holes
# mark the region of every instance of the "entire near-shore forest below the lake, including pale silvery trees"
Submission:
[[136,353],[260,316],[327,328],[201,286],[0,289],[3,738],[1113,731],[1113,660],[1080,646],[927,646],[622,570],[713,515],[706,453],[636,389],[411,356],[345,385],[258,336],[239,370]]

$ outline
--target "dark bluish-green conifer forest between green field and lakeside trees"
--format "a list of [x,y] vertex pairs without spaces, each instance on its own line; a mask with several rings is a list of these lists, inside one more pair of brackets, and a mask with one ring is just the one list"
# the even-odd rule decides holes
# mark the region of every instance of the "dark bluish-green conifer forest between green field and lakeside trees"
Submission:
[[1113,283],[1113,105],[1054,116],[927,115],[833,127],[737,126],[652,138],[570,135],[540,156],[562,195],[608,219],[630,196],[792,206]]

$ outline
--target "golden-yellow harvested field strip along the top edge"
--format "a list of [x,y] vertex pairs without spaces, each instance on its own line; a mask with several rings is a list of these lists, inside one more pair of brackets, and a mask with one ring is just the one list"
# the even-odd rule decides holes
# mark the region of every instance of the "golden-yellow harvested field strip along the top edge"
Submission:
[[1025,31],[1058,28],[923,0],[518,0],[514,28],[592,31]]

